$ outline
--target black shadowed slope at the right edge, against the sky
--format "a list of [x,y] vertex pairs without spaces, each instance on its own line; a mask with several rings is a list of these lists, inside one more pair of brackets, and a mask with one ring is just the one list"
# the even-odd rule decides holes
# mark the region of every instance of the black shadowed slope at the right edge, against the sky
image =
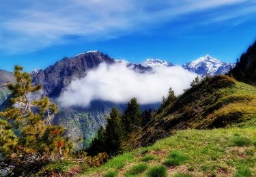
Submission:
[[229,76],[256,85],[256,42],[241,55],[236,67],[229,72]]

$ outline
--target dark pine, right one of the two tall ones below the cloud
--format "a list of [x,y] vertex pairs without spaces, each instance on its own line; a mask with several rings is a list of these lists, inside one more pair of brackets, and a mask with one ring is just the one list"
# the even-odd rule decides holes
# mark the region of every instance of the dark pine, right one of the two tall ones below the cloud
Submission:
[[131,133],[141,127],[140,105],[137,103],[136,98],[132,98],[128,102],[122,121],[127,133]]

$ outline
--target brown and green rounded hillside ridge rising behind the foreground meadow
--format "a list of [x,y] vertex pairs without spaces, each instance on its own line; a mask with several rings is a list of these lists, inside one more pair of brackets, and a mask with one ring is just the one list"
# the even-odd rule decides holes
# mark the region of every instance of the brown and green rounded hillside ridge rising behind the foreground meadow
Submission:
[[215,76],[177,97],[142,129],[134,145],[150,145],[178,129],[251,125],[256,125],[256,87],[229,76]]

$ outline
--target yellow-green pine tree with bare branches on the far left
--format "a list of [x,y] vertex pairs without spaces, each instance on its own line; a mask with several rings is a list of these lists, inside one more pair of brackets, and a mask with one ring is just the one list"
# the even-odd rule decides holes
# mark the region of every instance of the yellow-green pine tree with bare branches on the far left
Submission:
[[12,128],[17,132],[18,142],[10,158],[19,157],[23,161],[62,159],[72,150],[72,143],[64,137],[63,127],[51,125],[57,106],[48,97],[31,99],[42,86],[32,86],[31,76],[23,72],[23,67],[16,66],[14,76],[16,84],[8,84],[12,106],[0,113],[14,123]]

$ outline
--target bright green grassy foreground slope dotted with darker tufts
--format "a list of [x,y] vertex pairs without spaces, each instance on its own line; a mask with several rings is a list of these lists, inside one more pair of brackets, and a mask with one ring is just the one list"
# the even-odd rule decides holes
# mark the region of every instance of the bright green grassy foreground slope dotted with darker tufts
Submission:
[[256,176],[256,129],[187,129],[81,176]]

